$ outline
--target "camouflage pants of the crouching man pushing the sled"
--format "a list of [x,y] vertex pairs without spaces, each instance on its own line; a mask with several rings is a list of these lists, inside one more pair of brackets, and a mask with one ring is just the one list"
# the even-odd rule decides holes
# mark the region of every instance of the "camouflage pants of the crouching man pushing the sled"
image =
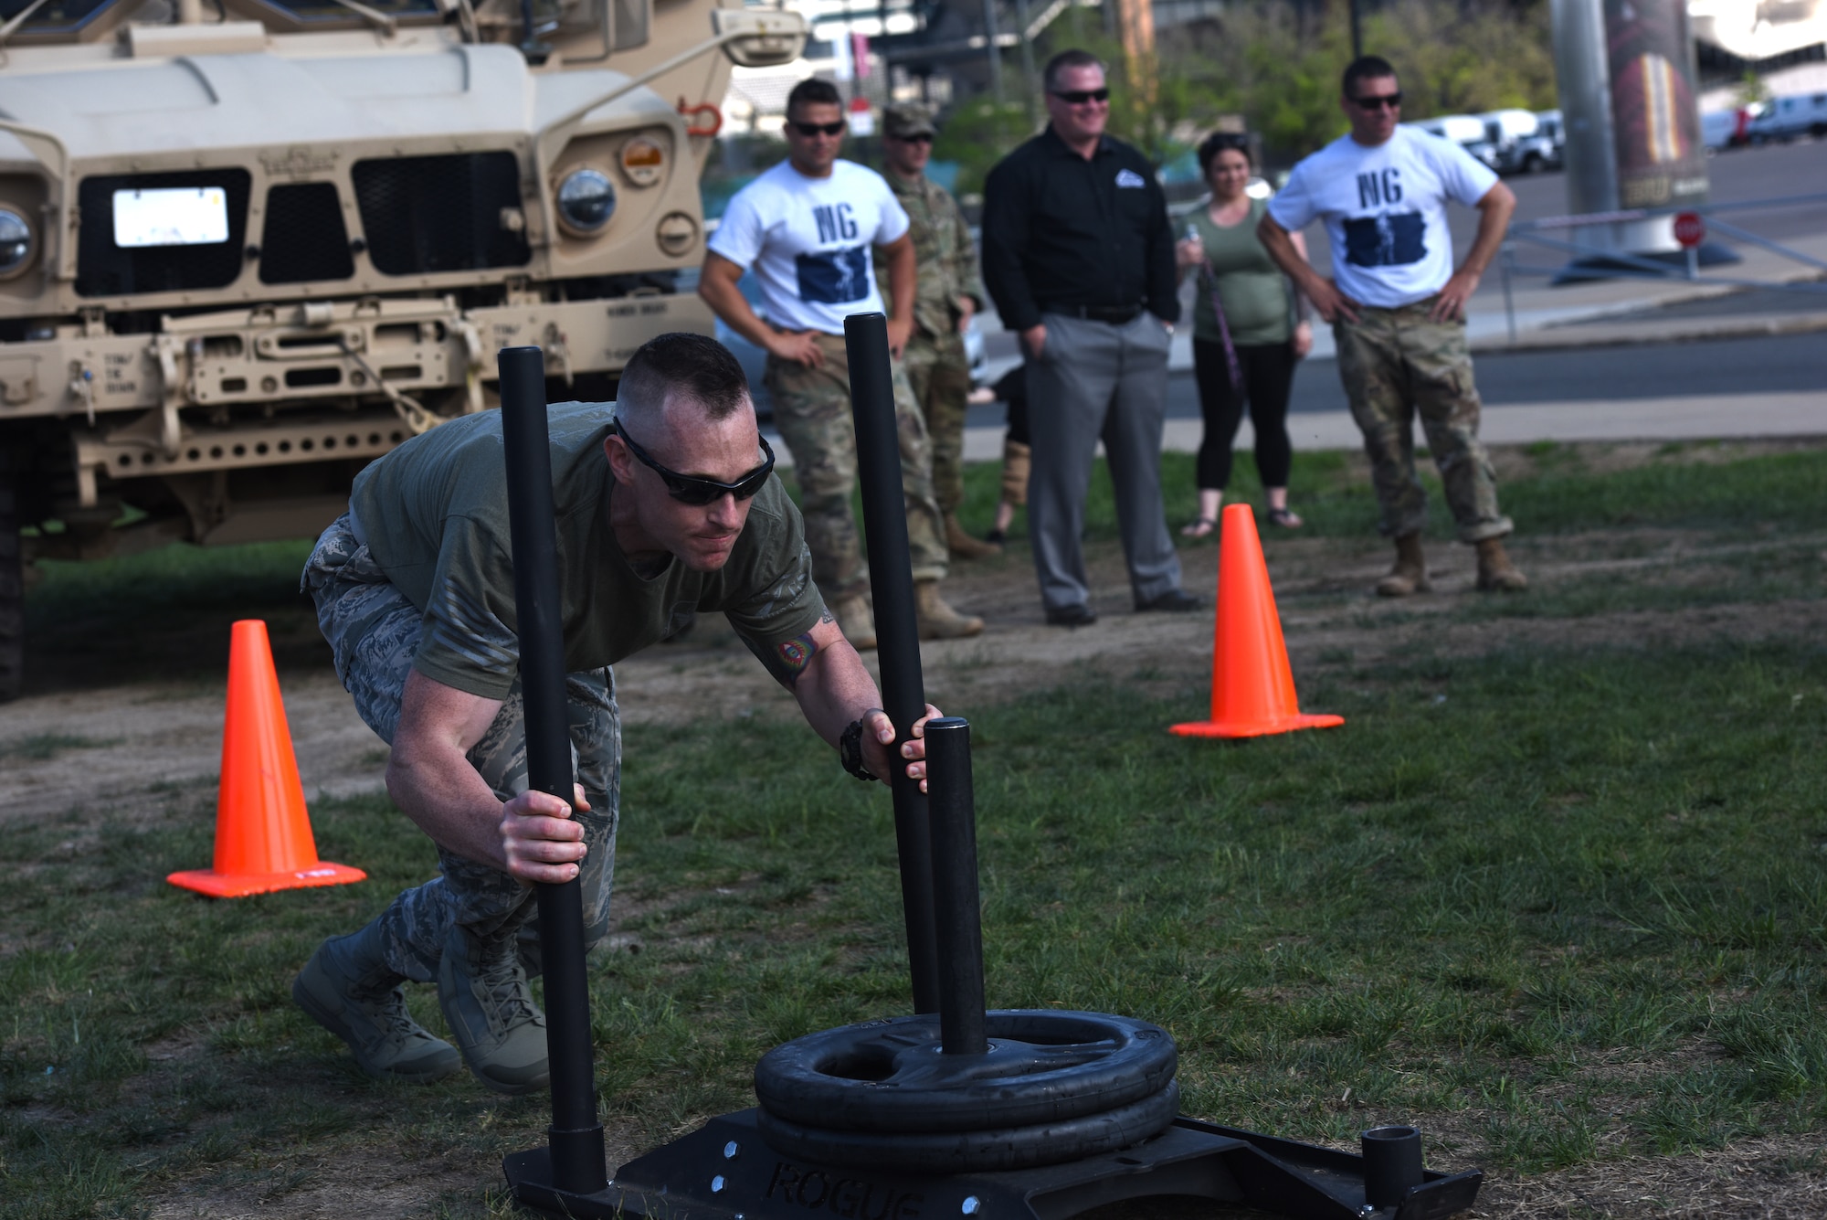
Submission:
[[[400,725],[406,676],[418,650],[422,612],[396,590],[360,544],[343,515],[323,531],[305,563],[303,590],[318,605],[318,625],[331,643],[336,676],[354,696],[369,729],[393,743]],[[621,718],[608,668],[566,678],[572,762],[590,811],[574,816],[590,853],[583,860],[585,946],[608,933],[608,891],[616,873],[616,824],[621,796]],[[470,751],[470,763],[501,800],[526,791],[526,729],[521,683],[495,721]],[[387,966],[420,983],[435,983],[444,937],[462,924],[482,941],[519,939],[528,973],[539,973],[539,926],[533,889],[438,844],[440,877],[406,889],[382,911]]]

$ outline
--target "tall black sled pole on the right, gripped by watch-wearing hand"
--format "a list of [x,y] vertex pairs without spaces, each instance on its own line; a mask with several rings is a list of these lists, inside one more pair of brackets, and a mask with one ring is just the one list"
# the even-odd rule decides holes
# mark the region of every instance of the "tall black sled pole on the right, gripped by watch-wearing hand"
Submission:
[[[870,546],[875,599],[875,656],[882,667],[882,710],[906,741],[926,712],[919,667],[919,621],[914,612],[914,566],[908,559],[908,510],[901,491],[901,431],[895,427],[893,373],[888,367],[888,318],[844,318],[850,358],[850,409],[857,416],[857,482],[862,491],[862,533]],[[932,829],[926,796],[906,767],[895,765],[895,846],[901,855],[901,908],[908,926],[908,968],[914,1012],[939,1010],[939,950],[932,915]]]

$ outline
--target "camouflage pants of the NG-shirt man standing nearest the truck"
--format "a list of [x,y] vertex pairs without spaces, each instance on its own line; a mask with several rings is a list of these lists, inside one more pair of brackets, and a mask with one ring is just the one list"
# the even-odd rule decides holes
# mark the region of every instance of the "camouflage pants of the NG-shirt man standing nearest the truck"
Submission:
[[[826,603],[870,592],[870,570],[857,542],[857,515],[850,493],[857,486],[857,429],[850,415],[850,358],[844,336],[820,334],[824,363],[817,369],[767,358],[767,393],[775,400],[775,427],[793,451],[806,517],[811,575]],[[915,581],[945,579],[950,553],[945,519],[932,499],[932,446],[914,389],[897,363],[895,426],[901,433],[901,491],[908,511],[908,550]]]

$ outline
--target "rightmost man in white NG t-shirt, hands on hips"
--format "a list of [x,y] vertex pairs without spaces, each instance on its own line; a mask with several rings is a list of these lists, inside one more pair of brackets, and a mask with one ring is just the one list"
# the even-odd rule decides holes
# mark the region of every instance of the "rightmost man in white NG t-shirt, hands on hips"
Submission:
[[[1527,588],[1504,553],[1511,522],[1498,511],[1496,475],[1478,444],[1478,389],[1465,345],[1465,301],[1504,241],[1516,195],[1452,141],[1399,126],[1401,86],[1387,60],[1352,60],[1339,102],[1350,133],[1294,166],[1257,236],[1332,323],[1339,380],[1370,455],[1379,528],[1396,539],[1396,566],[1376,592],[1407,597],[1429,588],[1416,415],[1460,541],[1478,548],[1478,588]],[[1478,237],[1456,272],[1449,199],[1478,208]],[[1288,237],[1315,219],[1332,239],[1332,279]]]

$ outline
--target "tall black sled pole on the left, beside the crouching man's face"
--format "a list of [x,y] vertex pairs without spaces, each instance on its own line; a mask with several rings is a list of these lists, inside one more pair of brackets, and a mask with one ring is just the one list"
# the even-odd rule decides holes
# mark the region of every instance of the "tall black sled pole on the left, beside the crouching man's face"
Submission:
[[[508,530],[513,606],[526,703],[526,782],[565,804],[576,800],[565,709],[565,632],[559,617],[557,531],[552,511],[552,444],[546,433],[546,358],[537,347],[504,347],[501,442],[508,460]],[[596,1120],[590,990],[583,966],[583,886],[537,886],[539,950],[546,979],[546,1057],[552,1065],[552,1185],[572,1194],[608,1187],[603,1125]]]

